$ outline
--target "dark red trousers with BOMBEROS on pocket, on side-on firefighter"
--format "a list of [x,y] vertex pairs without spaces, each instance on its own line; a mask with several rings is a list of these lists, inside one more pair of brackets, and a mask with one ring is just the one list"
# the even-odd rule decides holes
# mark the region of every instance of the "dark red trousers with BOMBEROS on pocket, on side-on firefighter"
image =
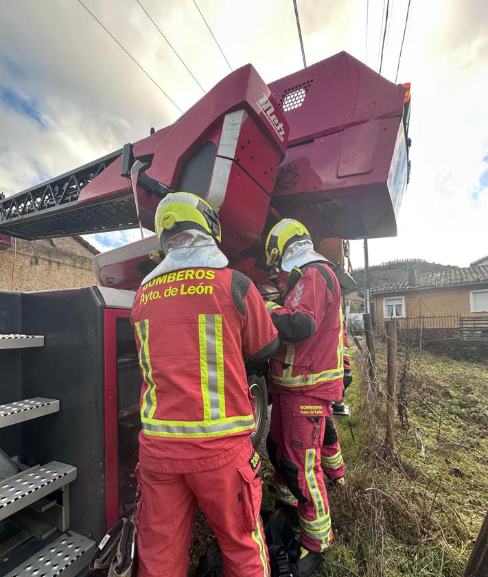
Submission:
[[301,544],[323,552],[332,541],[329,501],[321,467],[321,447],[331,403],[296,394],[272,397],[266,443],[275,466],[278,499],[298,506]]

